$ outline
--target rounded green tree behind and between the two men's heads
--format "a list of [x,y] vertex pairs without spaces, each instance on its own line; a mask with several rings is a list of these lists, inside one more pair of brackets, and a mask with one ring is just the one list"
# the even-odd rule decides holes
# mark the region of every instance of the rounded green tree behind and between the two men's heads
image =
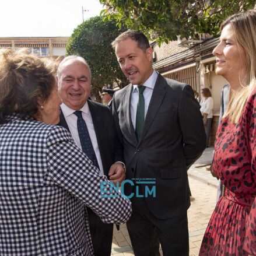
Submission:
[[86,59],[92,71],[92,92],[99,100],[103,86],[117,83],[119,87],[128,84],[118,65],[111,42],[125,27],[119,29],[114,20],[92,17],[81,23],[72,33],[66,46],[66,55],[80,55]]

